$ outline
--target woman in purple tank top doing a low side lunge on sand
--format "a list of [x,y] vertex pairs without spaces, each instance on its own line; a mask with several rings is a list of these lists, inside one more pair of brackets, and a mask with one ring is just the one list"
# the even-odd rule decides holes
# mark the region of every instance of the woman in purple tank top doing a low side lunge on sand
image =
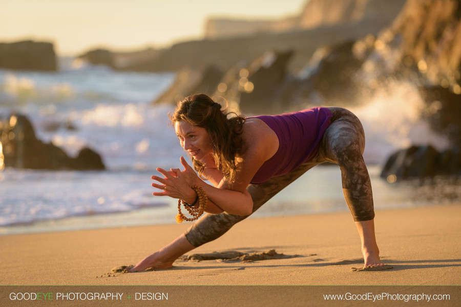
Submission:
[[164,178],[152,176],[160,183],[152,186],[163,191],[153,195],[192,204],[197,195],[191,186],[201,186],[209,214],[131,272],[171,268],[179,256],[219,238],[304,172],[327,161],[341,168],[344,196],[362,241],[364,268],[384,266],[374,236],[370,178],[362,158],[365,135],[355,115],[337,107],[246,119],[227,115],[204,94],[185,98],[170,115],[200,177],[181,157],[184,171],[157,169]]

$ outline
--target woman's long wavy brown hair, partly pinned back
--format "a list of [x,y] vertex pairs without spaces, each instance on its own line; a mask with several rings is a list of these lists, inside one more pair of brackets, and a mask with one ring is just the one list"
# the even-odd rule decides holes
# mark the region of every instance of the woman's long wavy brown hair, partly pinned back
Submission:
[[[229,117],[229,114],[235,116]],[[224,174],[229,183],[235,181],[235,156],[242,149],[242,133],[245,116],[235,112],[227,112],[227,102],[224,110],[203,93],[195,94],[178,102],[175,112],[168,116],[174,124],[184,121],[191,125],[204,128],[213,140],[213,157],[216,166]],[[192,157],[194,169],[202,177],[205,165]],[[204,178],[204,177],[202,177]],[[206,178],[205,178],[206,179]]]

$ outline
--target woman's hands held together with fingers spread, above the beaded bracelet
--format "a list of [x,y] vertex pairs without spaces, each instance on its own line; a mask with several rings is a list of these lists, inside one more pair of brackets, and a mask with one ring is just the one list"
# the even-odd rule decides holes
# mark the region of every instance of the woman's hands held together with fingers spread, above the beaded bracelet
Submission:
[[171,169],[171,171],[165,171],[158,168],[164,178],[158,176],[152,176],[151,179],[156,180],[162,184],[152,183],[153,187],[164,190],[163,192],[154,192],[154,196],[170,196],[172,198],[182,199],[184,201],[194,202],[196,198],[195,191],[191,188],[192,185],[197,184],[197,180],[200,178],[195,173],[194,169],[187,164],[184,157],[180,158],[181,164],[184,167],[184,171],[179,169]]

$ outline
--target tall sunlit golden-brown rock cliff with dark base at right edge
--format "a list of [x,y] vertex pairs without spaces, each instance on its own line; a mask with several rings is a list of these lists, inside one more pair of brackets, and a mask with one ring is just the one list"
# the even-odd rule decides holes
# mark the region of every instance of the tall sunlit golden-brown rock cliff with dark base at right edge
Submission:
[[431,127],[461,146],[461,3],[408,0],[369,54],[363,68],[372,76],[368,80],[383,84],[396,77],[421,84]]

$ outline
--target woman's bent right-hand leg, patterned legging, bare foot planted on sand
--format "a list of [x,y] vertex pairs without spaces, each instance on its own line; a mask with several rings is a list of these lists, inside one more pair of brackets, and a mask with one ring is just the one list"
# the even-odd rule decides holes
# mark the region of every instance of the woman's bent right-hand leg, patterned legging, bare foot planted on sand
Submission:
[[362,157],[365,148],[362,124],[346,109],[330,110],[333,122],[323,136],[320,155],[341,168],[344,197],[362,241],[364,267],[382,266],[374,235],[371,182]]

